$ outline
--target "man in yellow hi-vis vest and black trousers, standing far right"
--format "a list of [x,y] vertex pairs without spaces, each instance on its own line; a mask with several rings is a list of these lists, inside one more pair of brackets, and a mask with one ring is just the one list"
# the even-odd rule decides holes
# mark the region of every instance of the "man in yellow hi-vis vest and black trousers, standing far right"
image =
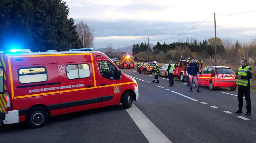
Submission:
[[250,98],[250,90],[251,90],[251,78],[252,78],[253,69],[248,66],[247,59],[241,60],[241,67],[238,68],[237,85],[238,85],[238,110],[236,113],[242,113],[243,108],[243,96],[246,100],[246,109],[247,112],[244,115],[251,115],[252,102]]

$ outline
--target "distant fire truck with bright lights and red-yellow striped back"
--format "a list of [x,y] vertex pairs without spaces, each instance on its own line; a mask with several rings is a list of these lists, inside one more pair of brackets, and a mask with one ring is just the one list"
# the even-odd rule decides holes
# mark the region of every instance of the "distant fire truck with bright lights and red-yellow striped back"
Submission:
[[119,60],[119,68],[134,69],[134,55],[122,54]]

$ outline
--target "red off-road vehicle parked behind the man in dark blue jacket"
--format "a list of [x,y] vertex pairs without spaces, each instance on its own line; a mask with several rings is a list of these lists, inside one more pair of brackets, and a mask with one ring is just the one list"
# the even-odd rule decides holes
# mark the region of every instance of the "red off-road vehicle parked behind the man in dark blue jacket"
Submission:
[[[187,65],[191,62],[191,59],[181,59],[176,62],[174,65],[174,77],[178,77],[181,82],[184,81],[186,74]],[[195,62],[199,65],[200,71],[203,69],[203,61],[195,60]]]

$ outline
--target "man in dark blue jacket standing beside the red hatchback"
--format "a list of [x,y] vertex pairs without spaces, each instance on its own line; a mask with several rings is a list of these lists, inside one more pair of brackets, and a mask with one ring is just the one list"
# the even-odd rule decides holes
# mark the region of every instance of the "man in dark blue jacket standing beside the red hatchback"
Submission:
[[195,59],[194,58],[191,59],[191,63],[188,64],[188,66],[187,66],[187,73],[188,73],[189,82],[190,82],[189,83],[189,85],[190,85],[189,91],[193,92],[193,90],[192,90],[192,87],[193,87],[192,86],[192,83],[193,83],[192,80],[194,79],[196,87],[197,87],[197,92],[201,92],[199,90],[199,84],[198,84],[198,79],[197,79],[197,74],[200,74],[200,70],[199,70],[198,64],[195,63]]

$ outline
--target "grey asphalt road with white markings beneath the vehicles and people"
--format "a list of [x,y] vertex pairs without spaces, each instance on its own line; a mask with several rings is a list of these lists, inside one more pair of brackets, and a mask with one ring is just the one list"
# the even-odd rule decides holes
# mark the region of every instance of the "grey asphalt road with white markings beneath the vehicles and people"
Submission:
[[200,87],[202,92],[197,93],[194,87],[194,92],[189,92],[179,79],[168,87],[164,77],[152,84],[153,75],[134,69],[123,69],[123,73],[136,78],[139,86],[139,99],[132,108],[118,105],[54,116],[38,129],[25,123],[0,125],[0,141],[256,142],[255,94],[251,94],[252,115],[245,116],[245,100],[243,113],[234,113],[237,91]]

